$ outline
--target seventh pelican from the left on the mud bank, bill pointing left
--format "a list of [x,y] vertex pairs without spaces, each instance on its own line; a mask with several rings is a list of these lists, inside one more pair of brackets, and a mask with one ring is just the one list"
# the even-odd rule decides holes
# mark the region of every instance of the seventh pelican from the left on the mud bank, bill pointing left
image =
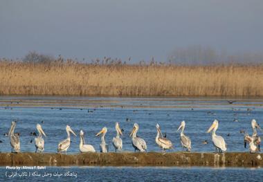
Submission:
[[132,129],[131,134],[129,134],[129,136],[131,137],[131,144],[134,147],[134,152],[136,152],[136,150],[139,150],[140,152],[145,152],[147,151],[147,145],[143,138],[139,138],[138,136],[136,136],[138,129],[138,124],[134,123],[134,128]]

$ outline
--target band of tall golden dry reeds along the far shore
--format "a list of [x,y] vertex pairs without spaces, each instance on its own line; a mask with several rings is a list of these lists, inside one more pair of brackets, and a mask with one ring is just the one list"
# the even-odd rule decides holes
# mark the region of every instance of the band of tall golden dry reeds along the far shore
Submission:
[[263,96],[263,66],[1,61],[0,94]]

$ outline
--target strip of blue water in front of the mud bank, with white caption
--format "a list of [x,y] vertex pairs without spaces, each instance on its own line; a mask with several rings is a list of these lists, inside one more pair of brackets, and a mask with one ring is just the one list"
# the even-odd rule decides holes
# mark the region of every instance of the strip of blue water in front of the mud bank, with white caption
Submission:
[[[21,176],[25,172],[28,176]],[[29,172],[30,175],[35,172],[39,176],[29,176]],[[73,176],[66,176],[65,173]],[[54,174],[62,176],[51,176]],[[0,167],[0,175],[0,181],[262,181],[263,170],[206,167],[46,167],[46,170],[17,171]]]

